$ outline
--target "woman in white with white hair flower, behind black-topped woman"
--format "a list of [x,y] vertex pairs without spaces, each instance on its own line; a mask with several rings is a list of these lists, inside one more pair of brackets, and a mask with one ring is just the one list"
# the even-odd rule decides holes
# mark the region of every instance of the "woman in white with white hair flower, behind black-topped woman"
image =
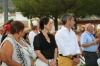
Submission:
[[34,50],[34,47],[33,47],[34,37],[39,33],[39,23],[36,20],[33,20],[31,22],[31,29],[32,31],[30,31],[29,33],[29,42],[30,42],[32,49]]

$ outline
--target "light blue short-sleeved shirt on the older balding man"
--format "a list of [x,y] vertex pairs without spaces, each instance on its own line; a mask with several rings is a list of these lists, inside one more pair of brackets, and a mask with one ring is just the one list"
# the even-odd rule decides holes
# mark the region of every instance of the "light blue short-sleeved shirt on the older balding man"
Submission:
[[[81,35],[81,38],[80,38],[81,44],[88,44],[88,43],[93,42],[94,40],[95,40],[95,38],[94,38],[93,34],[88,31],[85,31]],[[97,48],[98,48],[98,44],[95,44],[95,45],[91,45],[88,47],[83,47],[82,50],[89,51],[89,52],[96,52]]]

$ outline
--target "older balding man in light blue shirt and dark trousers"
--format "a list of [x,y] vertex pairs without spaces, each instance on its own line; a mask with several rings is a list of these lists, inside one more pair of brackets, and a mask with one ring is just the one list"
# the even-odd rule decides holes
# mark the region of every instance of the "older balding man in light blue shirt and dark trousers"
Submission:
[[81,44],[85,57],[86,66],[98,66],[97,64],[97,43],[99,38],[93,36],[94,28],[91,23],[85,25],[85,32],[81,35]]

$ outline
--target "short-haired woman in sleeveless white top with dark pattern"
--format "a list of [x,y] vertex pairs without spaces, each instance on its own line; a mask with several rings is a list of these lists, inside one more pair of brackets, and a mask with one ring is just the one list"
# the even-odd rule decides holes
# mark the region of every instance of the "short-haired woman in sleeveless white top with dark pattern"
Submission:
[[32,66],[32,49],[22,38],[24,24],[13,21],[10,24],[10,33],[1,44],[2,66]]

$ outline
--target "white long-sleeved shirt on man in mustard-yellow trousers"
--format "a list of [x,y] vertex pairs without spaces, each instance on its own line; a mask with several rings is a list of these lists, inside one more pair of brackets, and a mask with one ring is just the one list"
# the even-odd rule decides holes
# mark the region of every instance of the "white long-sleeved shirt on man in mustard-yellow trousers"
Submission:
[[67,28],[62,27],[57,31],[55,40],[58,45],[59,54],[63,56],[80,54],[77,37],[72,29],[69,31]]

